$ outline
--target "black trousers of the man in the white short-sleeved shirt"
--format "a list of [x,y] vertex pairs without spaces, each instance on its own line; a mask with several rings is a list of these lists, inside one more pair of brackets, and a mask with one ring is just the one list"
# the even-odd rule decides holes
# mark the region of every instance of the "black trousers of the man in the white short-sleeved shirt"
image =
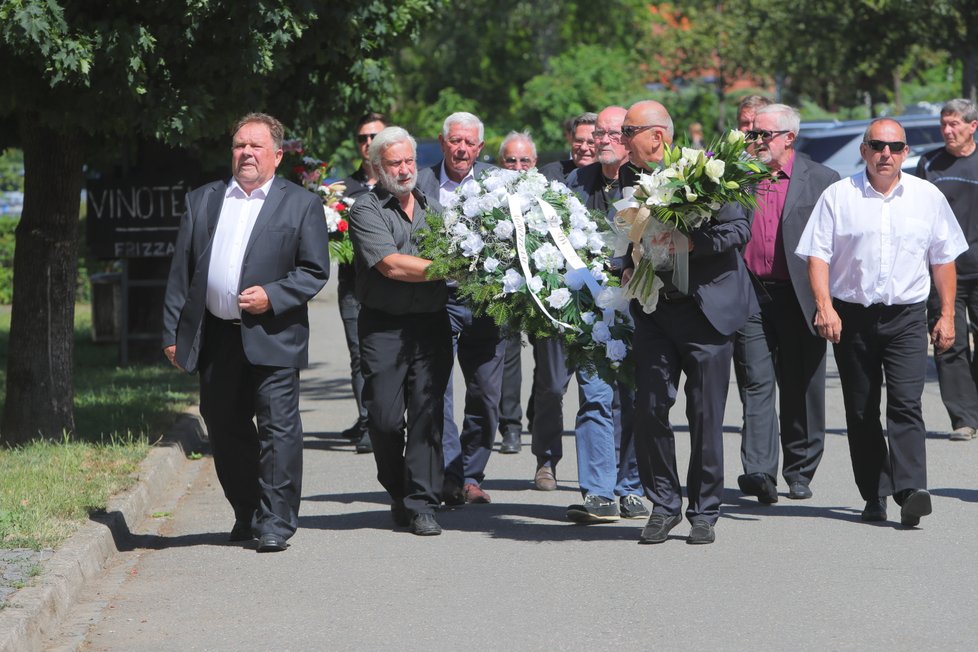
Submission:
[[[859,493],[870,500],[924,489],[926,430],[920,399],[927,373],[925,304],[865,307],[835,300],[834,305],[842,319],[835,360]],[[886,436],[880,424],[884,377]]]

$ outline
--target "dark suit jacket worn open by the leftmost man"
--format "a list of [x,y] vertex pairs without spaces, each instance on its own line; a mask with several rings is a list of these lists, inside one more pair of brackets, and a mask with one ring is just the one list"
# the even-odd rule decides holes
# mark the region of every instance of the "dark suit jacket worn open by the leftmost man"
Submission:
[[[163,346],[176,344],[176,361],[197,370],[211,241],[221,216],[226,181],[187,194],[163,307]],[[260,285],[271,308],[241,313],[241,341],[254,365],[302,368],[309,361],[306,304],[329,278],[329,232],[322,201],[276,177],[245,248],[238,291]]]

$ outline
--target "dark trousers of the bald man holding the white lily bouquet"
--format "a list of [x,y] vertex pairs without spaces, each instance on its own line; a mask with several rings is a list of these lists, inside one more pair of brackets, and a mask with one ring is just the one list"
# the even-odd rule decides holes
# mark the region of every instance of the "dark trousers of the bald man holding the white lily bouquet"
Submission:
[[723,411],[730,382],[733,336],[719,333],[695,301],[663,298],[652,314],[636,301],[635,452],[653,511],[682,509],[676,440],[669,410],[676,402],[680,373],[686,374],[686,418],[690,456],[686,472],[686,518],[715,523],[723,500]]

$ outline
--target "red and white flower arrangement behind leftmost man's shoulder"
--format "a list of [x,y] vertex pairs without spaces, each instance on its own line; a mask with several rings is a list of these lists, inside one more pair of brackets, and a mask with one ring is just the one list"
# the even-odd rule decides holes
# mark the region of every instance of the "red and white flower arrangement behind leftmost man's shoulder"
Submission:
[[353,242],[350,240],[350,207],[353,200],[344,196],[346,184],[342,181],[329,183],[326,170],[329,163],[314,156],[307,156],[300,140],[287,140],[282,150],[288,160],[295,180],[323,199],[323,213],[329,228],[329,256],[332,260],[348,264],[353,262]]

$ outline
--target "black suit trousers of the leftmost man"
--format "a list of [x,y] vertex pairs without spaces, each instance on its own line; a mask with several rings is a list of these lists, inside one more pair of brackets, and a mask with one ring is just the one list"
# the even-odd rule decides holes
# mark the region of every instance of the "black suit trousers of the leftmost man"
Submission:
[[199,371],[200,414],[235,518],[259,534],[292,536],[302,496],[299,371],[251,364],[241,327],[211,315]]

